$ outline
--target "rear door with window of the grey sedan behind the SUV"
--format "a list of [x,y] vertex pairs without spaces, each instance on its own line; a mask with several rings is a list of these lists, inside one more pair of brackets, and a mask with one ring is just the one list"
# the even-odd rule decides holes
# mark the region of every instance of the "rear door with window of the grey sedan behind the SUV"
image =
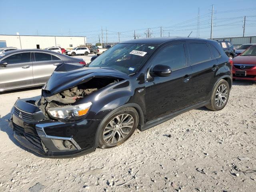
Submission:
[[34,52],[32,54],[34,56],[34,84],[44,84],[48,81],[56,66],[63,63],[63,61],[59,57],[48,53]]

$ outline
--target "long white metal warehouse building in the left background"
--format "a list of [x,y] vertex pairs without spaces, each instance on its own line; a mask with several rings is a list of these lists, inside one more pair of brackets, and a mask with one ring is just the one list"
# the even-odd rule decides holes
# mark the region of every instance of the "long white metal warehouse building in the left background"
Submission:
[[82,36],[32,36],[32,35],[0,35],[0,47],[16,47],[19,49],[44,49],[52,46],[74,48],[86,45],[86,37]]

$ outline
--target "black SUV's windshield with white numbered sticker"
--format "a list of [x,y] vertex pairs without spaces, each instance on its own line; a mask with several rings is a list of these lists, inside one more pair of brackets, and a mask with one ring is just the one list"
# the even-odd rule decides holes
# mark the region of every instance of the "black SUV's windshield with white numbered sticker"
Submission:
[[130,75],[140,69],[156,48],[149,44],[116,44],[93,60],[89,67],[110,67]]

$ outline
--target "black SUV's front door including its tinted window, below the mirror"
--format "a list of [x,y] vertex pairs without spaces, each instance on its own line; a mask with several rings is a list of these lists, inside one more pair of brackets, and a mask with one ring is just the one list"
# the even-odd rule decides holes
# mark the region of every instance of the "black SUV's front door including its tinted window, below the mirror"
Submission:
[[146,121],[182,110],[190,105],[192,97],[192,69],[187,65],[184,43],[170,44],[159,50],[149,68],[168,65],[172,73],[167,77],[151,77],[146,81]]

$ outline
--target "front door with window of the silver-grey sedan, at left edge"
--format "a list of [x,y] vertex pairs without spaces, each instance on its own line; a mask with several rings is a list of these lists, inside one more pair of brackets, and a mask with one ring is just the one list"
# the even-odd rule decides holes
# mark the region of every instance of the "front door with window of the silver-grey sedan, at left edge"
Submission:
[[6,67],[0,67],[0,89],[29,86],[33,84],[30,52],[17,53],[2,58]]

